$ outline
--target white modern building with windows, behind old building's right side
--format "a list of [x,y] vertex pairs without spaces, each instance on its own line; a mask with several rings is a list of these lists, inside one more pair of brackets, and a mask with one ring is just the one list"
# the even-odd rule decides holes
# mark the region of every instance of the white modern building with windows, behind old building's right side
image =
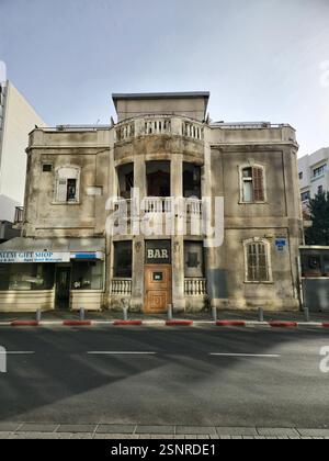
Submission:
[[308,205],[320,192],[329,191],[329,147],[306,155],[298,160],[302,202]]

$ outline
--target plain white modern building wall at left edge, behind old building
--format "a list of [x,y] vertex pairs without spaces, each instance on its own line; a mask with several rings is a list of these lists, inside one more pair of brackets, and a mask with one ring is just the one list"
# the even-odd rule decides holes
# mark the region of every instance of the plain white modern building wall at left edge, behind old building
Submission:
[[24,204],[29,133],[43,120],[10,81],[0,81],[0,223]]

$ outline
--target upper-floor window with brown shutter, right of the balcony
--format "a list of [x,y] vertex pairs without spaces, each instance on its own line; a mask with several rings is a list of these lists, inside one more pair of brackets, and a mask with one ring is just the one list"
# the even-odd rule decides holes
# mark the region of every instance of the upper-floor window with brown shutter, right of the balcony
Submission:
[[260,203],[265,201],[264,168],[245,167],[241,169],[241,202]]

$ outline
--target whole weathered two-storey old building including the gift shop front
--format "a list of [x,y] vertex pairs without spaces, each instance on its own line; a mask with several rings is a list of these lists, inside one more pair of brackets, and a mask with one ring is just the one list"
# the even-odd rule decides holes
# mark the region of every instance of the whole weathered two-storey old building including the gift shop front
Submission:
[[295,131],[213,123],[208,98],[114,94],[111,126],[31,133],[0,310],[299,308]]

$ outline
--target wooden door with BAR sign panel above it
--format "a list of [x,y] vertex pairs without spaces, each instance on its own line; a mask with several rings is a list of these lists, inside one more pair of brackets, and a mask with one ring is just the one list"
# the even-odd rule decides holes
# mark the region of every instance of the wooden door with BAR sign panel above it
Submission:
[[171,241],[146,241],[144,312],[162,314],[172,302]]

